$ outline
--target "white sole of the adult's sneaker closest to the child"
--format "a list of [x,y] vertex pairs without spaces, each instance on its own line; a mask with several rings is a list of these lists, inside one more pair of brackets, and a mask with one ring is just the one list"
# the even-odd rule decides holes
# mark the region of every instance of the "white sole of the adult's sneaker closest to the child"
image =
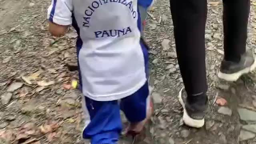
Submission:
[[195,120],[195,119],[191,118],[188,115],[187,111],[186,111],[185,103],[182,100],[182,90],[183,89],[184,88],[182,88],[180,90],[179,101],[180,101],[180,104],[182,105],[182,108],[183,108],[183,121],[184,121],[184,124],[186,124],[187,126],[193,127],[193,128],[202,128],[202,126],[204,126],[204,118],[202,120]]

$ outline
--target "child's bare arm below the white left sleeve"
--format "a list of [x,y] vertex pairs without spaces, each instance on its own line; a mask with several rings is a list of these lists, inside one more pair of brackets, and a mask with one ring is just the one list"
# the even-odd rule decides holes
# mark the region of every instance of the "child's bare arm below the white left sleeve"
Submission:
[[66,33],[69,26],[62,26],[49,22],[49,31],[53,36],[62,36]]

